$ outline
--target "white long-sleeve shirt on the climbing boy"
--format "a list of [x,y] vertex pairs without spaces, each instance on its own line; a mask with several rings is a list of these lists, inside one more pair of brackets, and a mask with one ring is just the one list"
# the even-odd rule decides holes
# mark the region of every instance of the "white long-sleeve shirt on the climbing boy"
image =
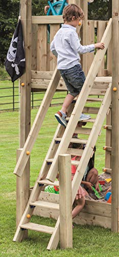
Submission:
[[94,44],[82,46],[76,28],[62,24],[54,36],[50,49],[57,56],[58,69],[69,69],[79,64],[80,53],[92,52]]

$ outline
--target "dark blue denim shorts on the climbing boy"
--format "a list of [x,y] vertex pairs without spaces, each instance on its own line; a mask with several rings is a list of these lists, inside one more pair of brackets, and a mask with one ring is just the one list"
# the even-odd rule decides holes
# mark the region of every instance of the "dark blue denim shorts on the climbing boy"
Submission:
[[77,64],[69,69],[60,69],[59,71],[69,94],[74,97],[79,95],[85,82],[85,74],[82,70],[81,64]]

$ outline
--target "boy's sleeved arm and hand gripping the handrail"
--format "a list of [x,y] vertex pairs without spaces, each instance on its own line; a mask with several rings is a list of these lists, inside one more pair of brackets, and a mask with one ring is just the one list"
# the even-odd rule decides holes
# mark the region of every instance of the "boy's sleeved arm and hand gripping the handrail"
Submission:
[[82,46],[80,44],[80,40],[78,38],[77,33],[72,33],[70,35],[70,46],[80,54],[83,54],[83,53],[86,53],[86,52],[92,52],[92,51],[94,51],[94,48],[100,48],[100,49],[105,48],[104,43],[97,43],[97,44]]

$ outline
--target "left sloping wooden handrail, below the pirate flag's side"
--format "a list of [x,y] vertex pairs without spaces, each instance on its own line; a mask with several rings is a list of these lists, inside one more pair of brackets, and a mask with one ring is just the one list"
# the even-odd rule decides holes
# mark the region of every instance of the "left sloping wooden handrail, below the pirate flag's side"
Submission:
[[27,153],[27,151],[29,151],[30,153],[32,151],[33,145],[37,139],[40,127],[41,127],[44,117],[46,115],[47,109],[49,108],[49,106],[51,104],[52,98],[55,94],[55,91],[56,91],[56,88],[57,88],[60,78],[61,78],[60,72],[59,72],[59,70],[57,70],[57,67],[56,67],[53,77],[49,83],[49,86],[47,87],[46,93],[45,93],[44,98],[39,107],[39,110],[38,110],[38,113],[34,120],[34,123],[31,127],[28,138],[25,142],[25,145],[23,146],[23,150],[22,150],[20,157],[16,163],[16,167],[15,167],[13,173],[19,177],[21,177],[23,170],[25,169],[27,161],[30,156],[30,155],[27,155],[26,153]]

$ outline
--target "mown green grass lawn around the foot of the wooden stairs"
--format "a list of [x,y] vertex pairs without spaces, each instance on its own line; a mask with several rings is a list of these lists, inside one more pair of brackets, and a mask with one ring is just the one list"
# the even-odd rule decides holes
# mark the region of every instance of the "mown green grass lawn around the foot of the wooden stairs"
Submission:
[[[89,106],[89,103],[87,105]],[[58,109],[59,107],[56,106],[49,108],[31,153],[31,186],[34,185],[56,130],[57,121],[54,119],[54,113]],[[32,123],[36,113],[37,109],[33,109]],[[112,233],[110,229],[101,227],[75,225],[73,249],[60,250],[58,246],[57,250],[49,252],[46,250],[46,246],[50,235],[35,231],[29,231],[29,238],[22,243],[12,241],[16,230],[16,176],[13,175],[13,170],[16,164],[16,149],[18,148],[18,119],[18,112],[0,114],[0,256],[119,256],[119,235]],[[95,166],[99,173],[105,166],[103,145],[105,145],[105,130],[102,130],[97,142]],[[47,226],[54,226],[56,223],[53,219],[37,216],[33,216],[32,220]]]

